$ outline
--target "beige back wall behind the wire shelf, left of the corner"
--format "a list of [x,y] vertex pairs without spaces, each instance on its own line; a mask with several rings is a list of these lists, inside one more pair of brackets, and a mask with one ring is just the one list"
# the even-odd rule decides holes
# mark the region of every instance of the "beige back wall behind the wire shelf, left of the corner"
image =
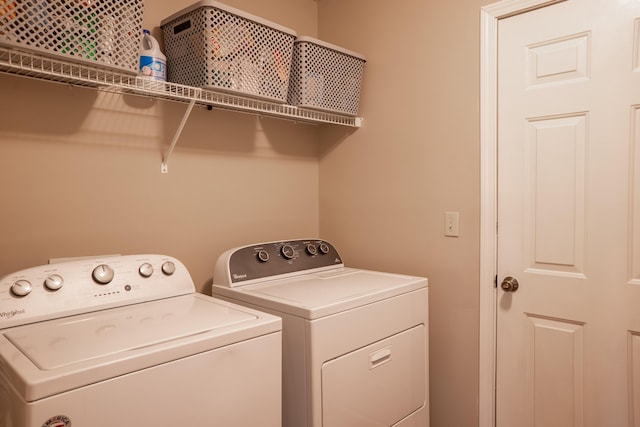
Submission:
[[[147,0],[145,26],[190,0]],[[315,34],[313,0],[227,0]],[[318,235],[317,126],[0,75],[0,274],[51,257],[159,252],[210,293],[225,249]]]

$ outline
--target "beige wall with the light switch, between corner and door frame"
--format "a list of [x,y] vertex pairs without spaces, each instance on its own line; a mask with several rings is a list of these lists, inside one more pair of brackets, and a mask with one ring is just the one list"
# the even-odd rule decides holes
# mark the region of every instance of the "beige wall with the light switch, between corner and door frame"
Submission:
[[[320,233],[352,266],[430,284],[433,427],[478,424],[479,34],[490,1],[321,0],[322,39],[367,57],[364,126],[324,132]],[[444,212],[460,237],[444,237]]]

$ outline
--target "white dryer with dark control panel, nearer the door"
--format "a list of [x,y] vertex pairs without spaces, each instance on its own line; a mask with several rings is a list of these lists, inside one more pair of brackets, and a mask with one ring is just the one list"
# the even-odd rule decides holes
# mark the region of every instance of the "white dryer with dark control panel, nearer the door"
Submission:
[[426,278],[289,240],[222,254],[213,295],[282,317],[284,426],[429,425]]

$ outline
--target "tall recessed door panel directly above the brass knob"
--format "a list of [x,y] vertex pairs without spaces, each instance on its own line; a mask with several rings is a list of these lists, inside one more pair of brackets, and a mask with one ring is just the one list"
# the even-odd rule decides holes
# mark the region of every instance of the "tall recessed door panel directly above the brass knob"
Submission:
[[528,269],[584,269],[586,121],[584,114],[528,120],[525,208]]

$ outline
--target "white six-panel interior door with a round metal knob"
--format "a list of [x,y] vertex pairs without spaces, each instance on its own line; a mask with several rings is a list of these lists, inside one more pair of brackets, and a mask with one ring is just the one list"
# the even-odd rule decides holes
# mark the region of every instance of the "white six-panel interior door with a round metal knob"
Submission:
[[638,427],[640,2],[501,19],[497,71],[496,424]]

